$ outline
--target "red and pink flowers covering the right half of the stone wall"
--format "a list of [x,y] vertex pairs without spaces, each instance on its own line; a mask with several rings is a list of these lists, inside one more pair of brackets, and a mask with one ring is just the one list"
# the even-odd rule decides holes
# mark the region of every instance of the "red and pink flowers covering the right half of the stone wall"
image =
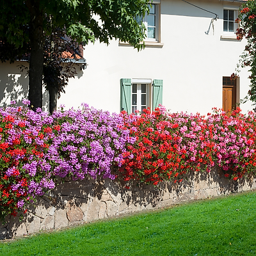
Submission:
[[125,126],[136,136],[127,146],[119,175],[125,181],[157,185],[181,181],[188,170],[207,170],[217,164],[225,177],[238,179],[255,170],[255,114],[237,108],[227,116],[214,108],[204,116],[170,114],[161,106],[140,116],[122,113]]

